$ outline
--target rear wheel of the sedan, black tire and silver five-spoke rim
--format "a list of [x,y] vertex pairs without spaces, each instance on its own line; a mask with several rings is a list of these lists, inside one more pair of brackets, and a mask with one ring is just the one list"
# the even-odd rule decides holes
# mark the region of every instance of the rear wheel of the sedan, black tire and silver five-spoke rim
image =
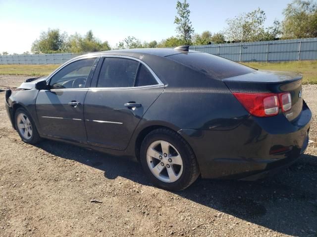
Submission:
[[169,191],[186,189],[200,174],[189,144],[167,128],[153,130],[144,138],[140,161],[152,183]]

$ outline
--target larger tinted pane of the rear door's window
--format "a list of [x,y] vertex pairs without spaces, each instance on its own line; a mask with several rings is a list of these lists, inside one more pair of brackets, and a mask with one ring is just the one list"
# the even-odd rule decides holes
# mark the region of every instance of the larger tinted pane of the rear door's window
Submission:
[[125,58],[105,58],[97,87],[132,87],[139,62]]

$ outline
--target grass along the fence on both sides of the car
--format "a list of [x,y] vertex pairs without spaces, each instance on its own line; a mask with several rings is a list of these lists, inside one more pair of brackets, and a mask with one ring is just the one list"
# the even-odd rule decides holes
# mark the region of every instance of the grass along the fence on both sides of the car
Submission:
[[[303,74],[303,84],[317,84],[317,60],[281,63],[244,63],[247,66],[276,71],[291,71]],[[0,75],[26,75],[45,76],[49,75],[59,65],[23,65],[11,64],[0,65]]]

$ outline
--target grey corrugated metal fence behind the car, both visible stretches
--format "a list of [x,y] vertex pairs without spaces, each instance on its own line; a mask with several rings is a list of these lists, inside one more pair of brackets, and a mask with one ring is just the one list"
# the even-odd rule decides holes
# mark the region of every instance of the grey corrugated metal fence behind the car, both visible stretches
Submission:
[[[190,46],[237,62],[317,60],[317,38]],[[62,64],[80,54],[2,55],[0,64]]]

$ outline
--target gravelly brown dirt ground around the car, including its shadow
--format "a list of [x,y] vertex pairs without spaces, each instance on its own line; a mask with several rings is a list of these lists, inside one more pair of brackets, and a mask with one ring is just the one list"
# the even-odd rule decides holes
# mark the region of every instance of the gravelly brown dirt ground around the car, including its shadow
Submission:
[[303,86],[315,142],[288,169],[257,182],[198,179],[171,193],[152,187],[140,165],[123,158],[21,142],[1,89],[25,78],[0,76],[1,237],[317,237],[317,85]]

